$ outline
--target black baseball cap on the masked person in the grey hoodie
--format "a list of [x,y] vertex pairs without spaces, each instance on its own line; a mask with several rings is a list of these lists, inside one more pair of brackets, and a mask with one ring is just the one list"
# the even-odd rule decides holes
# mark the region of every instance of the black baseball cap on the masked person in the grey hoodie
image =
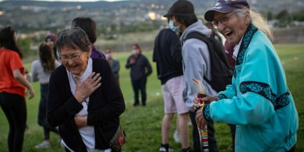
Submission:
[[189,1],[178,0],[172,5],[171,9],[164,17],[169,18],[176,13],[194,13],[194,6]]

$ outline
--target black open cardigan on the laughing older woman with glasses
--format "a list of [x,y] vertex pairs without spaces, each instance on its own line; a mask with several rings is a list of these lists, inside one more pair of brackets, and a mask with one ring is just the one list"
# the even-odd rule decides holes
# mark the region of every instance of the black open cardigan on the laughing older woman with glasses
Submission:
[[[109,140],[119,126],[119,116],[125,110],[123,94],[108,62],[93,58],[93,71],[100,73],[101,86],[90,96],[88,126],[94,126],[95,148],[109,148]],[[74,151],[87,151],[74,121],[83,108],[72,95],[66,68],[60,65],[50,78],[47,100],[47,120],[50,126],[59,126],[66,145]]]

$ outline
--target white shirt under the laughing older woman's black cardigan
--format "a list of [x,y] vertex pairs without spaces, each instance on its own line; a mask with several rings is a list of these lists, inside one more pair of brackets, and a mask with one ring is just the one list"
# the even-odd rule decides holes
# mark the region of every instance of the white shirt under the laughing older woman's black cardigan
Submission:
[[[90,76],[92,71],[93,71],[92,58],[88,59],[87,69],[85,70],[85,72],[81,76],[73,75],[71,72],[66,70],[67,77],[68,77],[68,80],[69,80],[69,85],[70,85],[71,92],[72,92],[73,95],[75,95],[75,91],[76,91],[76,81],[75,81],[74,78],[78,77],[80,79],[81,83],[82,83]],[[85,99],[85,101],[82,102],[83,109],[81,109],[75,116],[87,116],[88,115],[88,104],[89,104],[89,97],[87,97]],[[95,149],[94,126],[86,126],[86,127],[78,128],[78,131],[79,131],[79,133],[80,133],[80,135],[83,139],[83,142],[87,146],[88,152],[110,152],[111,151],[110,148],[105,149],[105,150]],[[68,148],[70,151],[73,151],[64,143],[63,140],[61,140],[61,143],[66,148]]]

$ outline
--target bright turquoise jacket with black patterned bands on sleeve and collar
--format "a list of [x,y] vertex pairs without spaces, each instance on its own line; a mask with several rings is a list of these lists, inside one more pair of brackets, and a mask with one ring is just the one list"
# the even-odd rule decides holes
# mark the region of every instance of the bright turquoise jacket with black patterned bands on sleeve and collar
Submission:
[[[243,39],[247,39],[244,35]],[[275,48],[261,31],[239,51],[232,85],[204,108],[205,118],[236,124],[235,151],[287,151],[298,114]]]

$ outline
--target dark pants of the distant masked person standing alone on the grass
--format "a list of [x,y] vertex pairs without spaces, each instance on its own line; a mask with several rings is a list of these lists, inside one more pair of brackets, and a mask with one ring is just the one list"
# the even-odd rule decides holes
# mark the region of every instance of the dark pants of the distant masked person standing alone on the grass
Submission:
[[146,104],[146,82],[147,82],[147,78],[141,78],[140,80],[132,80],[132,87],[133,87],[133,91],[134,91],[134,100],[135,103],[134,105],[138,105],[139,104],[139,99],[138,99],[138,91],[141,91],[141,103],[142,105]]

